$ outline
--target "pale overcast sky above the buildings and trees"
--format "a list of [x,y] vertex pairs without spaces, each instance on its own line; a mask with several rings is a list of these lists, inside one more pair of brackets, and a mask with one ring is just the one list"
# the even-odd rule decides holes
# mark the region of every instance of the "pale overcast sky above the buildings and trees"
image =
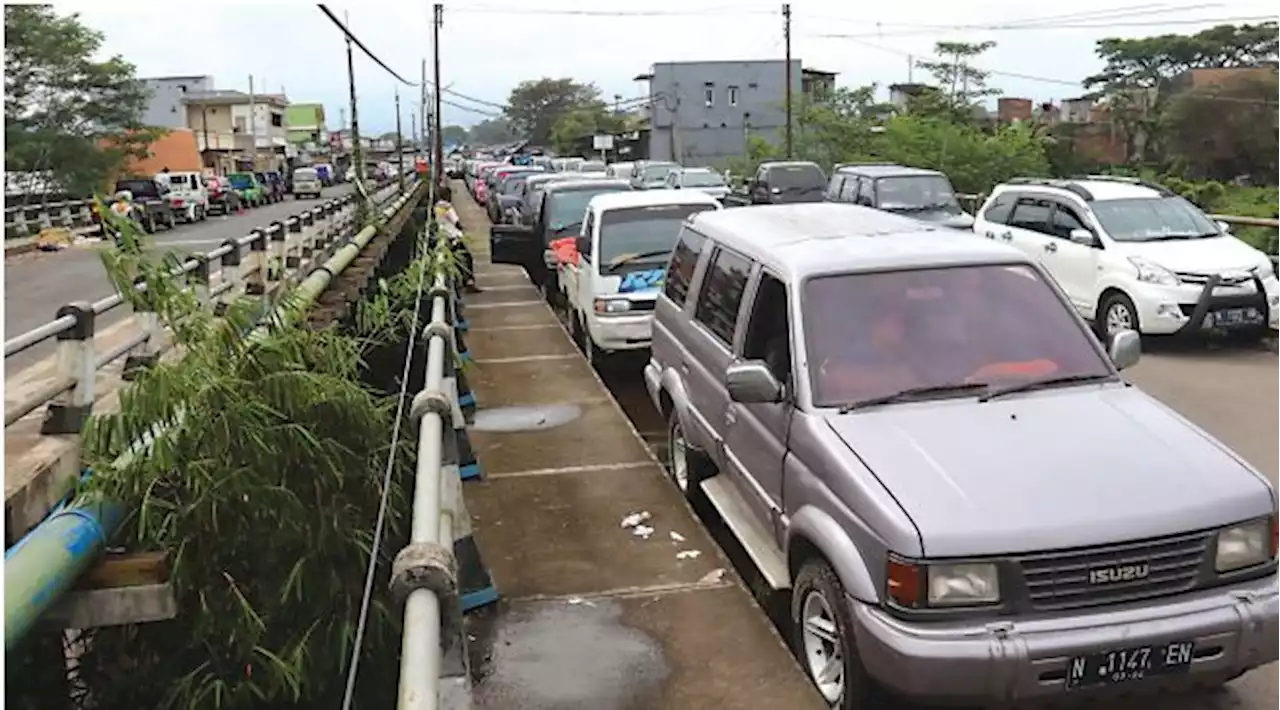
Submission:
[[[314,4],[131,0],[124,14],[115,3],[54,5],[79,12],[88,26],[106,35],[104,52],[132,61],[140,77],[210,74],[218,88],[247,91],[252,74],[257,91],[283,87],[292,101],[323,101],[330,129],[339,128],[339,109],[347,106],[344,43],[340,31]],[[380,0],[329,8],[339,18],[349,13],[352,32],[404,79],[419,82],[422,59],[430,59],[430,3]],[[978,63],[997,72],[991,86],[1005,96],[1037,101],[1083,92],[1078,82],[1101,68],[1093,52],[1098,38],[1190,33],[1280,14],[1277,0],[794,0],[791,9],[792,55],[805,67],[838,72],[840,86],[904,82],[910,75],[909,58],[928,59],[938,40],[991,40],[997,46]],[[594,82],[607,100],[614,95],[625,100],[646,92],[632,77],[657,61],[782,56],[781,3],[444,3],[442,83],[492,104],[502,104],[524,79],[570,77]],[[925,72],[915,69],[914,78],[924,79]],[[356,82],[364,132],[394,129],[398,82],[358,50]],[[407,132],[420,90],[399,84],[399,91]],[[497,110],[447,97],[475,109],[445,106],[447,124],[470,125]]]

